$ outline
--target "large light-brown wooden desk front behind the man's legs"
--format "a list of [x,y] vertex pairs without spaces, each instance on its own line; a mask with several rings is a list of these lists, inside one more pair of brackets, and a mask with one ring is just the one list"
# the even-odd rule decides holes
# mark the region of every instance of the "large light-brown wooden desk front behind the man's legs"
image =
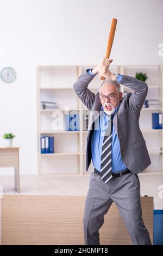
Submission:
[[[2,245],[84,245],[82,195],[4,195]],[[153,198],[142,197],[143,221],[153,240]],[[101,245],[132,244],[113,203],[99,230]]]

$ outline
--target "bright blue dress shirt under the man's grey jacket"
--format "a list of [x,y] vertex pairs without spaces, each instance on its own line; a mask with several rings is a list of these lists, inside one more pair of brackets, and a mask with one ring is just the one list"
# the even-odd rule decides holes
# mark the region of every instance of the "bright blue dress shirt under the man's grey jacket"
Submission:
[[[88,70],[87,73],[92,75],[91,70]],[[120,82],[121,80],[122,80],[122,76],[118,75],[117,82]],[[117,111],[119,106],[120,104],[116,107],[114,114]],[[96,129],[93,131],[92,140],[91,140],[91,151],[92,151],[93,165],[98,171],[101,171],[101,152],[102,152],[103,139],[104,139],[106,129],[108,128],[108,124],[110,122],[110,117],[109,115],[106,115],[105,112],[103,111],[103,106],[101,106],[101,114],[97,122],[99,123],[99,129],[97,129],[98,126],[96,126]],[[123,163],[123,160],[121,157],[120,141],[118,140],[113,123],[112,123],[111,168],[112,168],[112,172],[117,172],[117,171],[122,171],[127,169],[127,166]]]

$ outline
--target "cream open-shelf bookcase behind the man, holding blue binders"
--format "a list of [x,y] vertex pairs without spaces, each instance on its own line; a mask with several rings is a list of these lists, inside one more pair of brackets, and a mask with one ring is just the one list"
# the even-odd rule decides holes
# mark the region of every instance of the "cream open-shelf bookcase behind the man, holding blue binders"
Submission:
[[[37,141],[38,141],[38,169],[40,175],[48,176],[89,176],[93,171],[91,163],[89,171],[85,170],[86,136],[87,130],[83,130],[83,113],[88,111],[79,100],[73,90],[74,82],[91,66],[39,66],[37,67]],[[162,129],[152,129],[152,112],[162,112],[162,86],[163,66],[110,66],[112,73],[135,76],[136,72],[147,73],[148,94],[146,99],[159,99],[160,107],[142,108],[140,127],[146,140],[148,152],[152,164],[142,174],[162,174],[163,157]],[[62,79],[60,79],[62,78]],[[101,81],[98,75],[89,84],[89,89],[97,93]],[[133,92],[130,88],[121,85],[123,92]],[[57,102],[56,109],[42,109],[41,101]],[[80,130],[68,131],[64,129],[52,129],[53,115],[58,111],[67,114],[68,111],[78,111]],[[54,136],[54,153],[40,153],[40,136]],[[153,143],[153,141],[155,141]],[[149,150],[150,148],[150,150]],[[160,148],[160,150],[158,150]]]

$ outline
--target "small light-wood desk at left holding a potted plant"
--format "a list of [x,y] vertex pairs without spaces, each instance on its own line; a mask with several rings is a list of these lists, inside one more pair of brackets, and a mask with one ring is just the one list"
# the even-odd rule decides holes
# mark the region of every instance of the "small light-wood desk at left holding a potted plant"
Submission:
[[0,167],[14,167],[15,189],[20,193],[19,148],[0,147]]

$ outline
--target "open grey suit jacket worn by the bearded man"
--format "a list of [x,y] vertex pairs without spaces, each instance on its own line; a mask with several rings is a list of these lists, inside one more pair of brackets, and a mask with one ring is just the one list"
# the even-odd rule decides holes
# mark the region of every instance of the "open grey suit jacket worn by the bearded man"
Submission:
[[[86,147],[86,171],[92,159],[91,138],[93,129],[102,106],[99,92],[95,94],[87,88],[93,78],[94,76],[85,71],[73,84],[77,96],[82,100],[87,109],[90,110]],[[127,75],[122,75],[121,84],[133,89],[134,92],[128,92],[122,98],[121,104],[113,117],[113,124],[120,141],[122,160],[131,172],[137,174],[151,164],[146,141],[139,127],[140,111],[147,96],[148,86],[145,82]]]

